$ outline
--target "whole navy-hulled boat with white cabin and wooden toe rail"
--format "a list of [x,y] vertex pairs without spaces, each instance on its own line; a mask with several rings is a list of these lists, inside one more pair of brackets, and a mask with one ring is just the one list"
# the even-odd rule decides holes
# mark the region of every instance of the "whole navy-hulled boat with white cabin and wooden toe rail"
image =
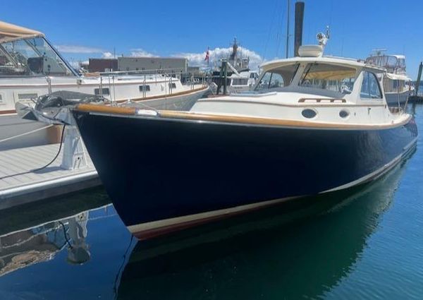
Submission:
[[385,69],[322,56],[269,61],[250,93],[190,112],[78,104],[73,116],[116,210],[138,239],[372,181],[415,146],[386,104]]

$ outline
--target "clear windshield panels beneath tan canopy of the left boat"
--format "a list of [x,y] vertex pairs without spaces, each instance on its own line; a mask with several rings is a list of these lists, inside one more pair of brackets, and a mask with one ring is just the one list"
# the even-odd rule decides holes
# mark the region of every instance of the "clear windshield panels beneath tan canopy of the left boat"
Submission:
[[43,37],[0,44],[0,76],[72,76]]

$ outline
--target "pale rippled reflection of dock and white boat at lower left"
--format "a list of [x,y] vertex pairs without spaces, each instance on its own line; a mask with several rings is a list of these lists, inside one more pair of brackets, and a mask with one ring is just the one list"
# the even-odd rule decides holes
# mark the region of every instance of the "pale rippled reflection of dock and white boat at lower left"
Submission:
[[0,276],[53,260],[65,248],[68,251],[68,263],[87,262],[90,260],[90,246],[85,239],[89,217],[87,210],[61,220],[1,235]]

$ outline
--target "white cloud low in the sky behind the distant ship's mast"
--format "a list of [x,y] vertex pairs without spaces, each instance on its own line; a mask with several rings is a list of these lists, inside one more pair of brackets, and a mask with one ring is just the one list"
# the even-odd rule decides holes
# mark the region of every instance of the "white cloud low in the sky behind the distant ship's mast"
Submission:
[[[222,58],[227,58],[232,53],[232,47],[228,48],[214,48],[209,50],[210,57],[210,66],[214,64],[219,64],[219,60]],[[238,47],[238,53],[242,56],[250,57],[250,68],[252,70],[256,69],[260,64],[264,62],[262,56],[257,54],[250,49],[244,47]],[[204,61],[206,57],[206,52],[202,53],[178,53],[174,54],[175,57],[185,57],[188,59],[188,64],[190,66],[207,66],[207,61]]]

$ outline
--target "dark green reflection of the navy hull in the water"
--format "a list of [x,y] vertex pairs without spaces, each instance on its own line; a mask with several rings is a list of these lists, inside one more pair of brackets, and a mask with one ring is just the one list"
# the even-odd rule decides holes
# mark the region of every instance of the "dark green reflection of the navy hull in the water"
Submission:
[[403,169],[398,166],[353,190],[138,241],[121,276],[118,298],[322,296],[355,269],[393,201]]

